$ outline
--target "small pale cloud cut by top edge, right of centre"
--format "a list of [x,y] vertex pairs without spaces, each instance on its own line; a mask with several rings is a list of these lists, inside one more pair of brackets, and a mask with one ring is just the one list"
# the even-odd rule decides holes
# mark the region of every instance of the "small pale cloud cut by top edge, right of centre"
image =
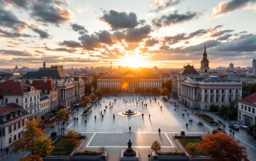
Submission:
[[181,3],[182,1],[184,1],[184,0],[167,0],[167,1],[155,0],[151,4],[151,6],[156,9],[151,10],[151,12],[159,12],[165,8],[170,7],[170,6],[176,6],[177,4]]

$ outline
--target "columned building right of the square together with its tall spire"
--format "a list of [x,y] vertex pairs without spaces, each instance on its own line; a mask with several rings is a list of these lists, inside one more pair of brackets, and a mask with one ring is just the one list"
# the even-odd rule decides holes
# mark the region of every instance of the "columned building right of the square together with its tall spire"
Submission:
[[209,76],[206,48],[200,63],[200,73],[188,64],[172,78],[172,92],[177,93],[182,104],[191,109],[209,109],[211,104],[228,106],[232,100],[242,97],[243,84],[240,80]]

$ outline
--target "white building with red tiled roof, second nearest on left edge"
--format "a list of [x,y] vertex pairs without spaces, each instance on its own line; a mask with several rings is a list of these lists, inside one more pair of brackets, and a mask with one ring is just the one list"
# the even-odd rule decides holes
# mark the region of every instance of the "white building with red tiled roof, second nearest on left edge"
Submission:
[[23,81],[8,80],[0,84],[0,95],[4,97],[4,104],[15,103],[30,113],[30,120],[39,120],[40,91]]

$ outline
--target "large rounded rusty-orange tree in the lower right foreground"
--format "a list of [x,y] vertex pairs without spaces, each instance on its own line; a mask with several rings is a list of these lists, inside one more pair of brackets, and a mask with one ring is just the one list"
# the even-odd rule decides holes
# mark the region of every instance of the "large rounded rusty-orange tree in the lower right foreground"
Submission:
[[248,155],[244,146],[239,146],[239,141],[234,140],[224,132],[205,135],[205,139],[198,144],[200,151],[215,160],[245,160]]

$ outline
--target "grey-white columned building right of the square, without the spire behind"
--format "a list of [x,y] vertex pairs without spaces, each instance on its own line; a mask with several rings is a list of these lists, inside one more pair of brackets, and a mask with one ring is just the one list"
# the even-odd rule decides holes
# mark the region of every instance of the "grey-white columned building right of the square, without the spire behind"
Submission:
[[241,81],[219,77],[194,76],[181,80],[179,101],[191,109],[210,109],[210,105],[229,106],[242,97]]

